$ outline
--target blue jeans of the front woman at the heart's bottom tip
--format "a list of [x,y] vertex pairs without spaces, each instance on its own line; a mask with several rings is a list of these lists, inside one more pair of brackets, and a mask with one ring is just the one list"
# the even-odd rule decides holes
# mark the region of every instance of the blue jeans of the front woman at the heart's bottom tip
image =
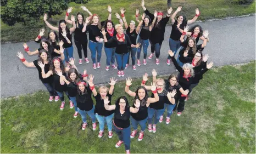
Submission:
[[115,133],[118,134],[118,138],[121,141],[124,141],[125,144],[125,150],[130,150],[130,134],[131,134],[131,127],[127,127],[124,129],[118,129],[114,126]]

